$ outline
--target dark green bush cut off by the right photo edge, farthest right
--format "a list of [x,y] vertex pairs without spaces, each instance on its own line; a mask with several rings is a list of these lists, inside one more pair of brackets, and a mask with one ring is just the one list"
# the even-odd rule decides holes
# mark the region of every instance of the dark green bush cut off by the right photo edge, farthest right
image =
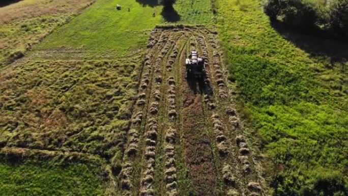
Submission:
[[348,0],[336,1],[332,4],[330,25],[339,36],[348,36]]

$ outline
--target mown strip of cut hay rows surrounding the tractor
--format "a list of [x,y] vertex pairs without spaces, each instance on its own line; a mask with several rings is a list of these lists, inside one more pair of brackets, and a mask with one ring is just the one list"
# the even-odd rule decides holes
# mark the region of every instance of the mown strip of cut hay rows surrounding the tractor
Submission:
[[[204,27],[151,34],[123,156],[122,195],[263,195],[215,36]],[[186,78],[193,49],[206,61],[201,86]]]

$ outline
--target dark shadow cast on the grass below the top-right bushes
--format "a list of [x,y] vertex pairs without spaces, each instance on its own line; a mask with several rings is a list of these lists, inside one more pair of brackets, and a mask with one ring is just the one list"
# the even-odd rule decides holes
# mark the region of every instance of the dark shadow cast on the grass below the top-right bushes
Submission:
[[272,21],[271,25],[286,40],[308,52],[312,57],[329,57],[331,63],[348,60],[346,40],[334,39],[332,34],[318,29],[294,30],[279,21]]

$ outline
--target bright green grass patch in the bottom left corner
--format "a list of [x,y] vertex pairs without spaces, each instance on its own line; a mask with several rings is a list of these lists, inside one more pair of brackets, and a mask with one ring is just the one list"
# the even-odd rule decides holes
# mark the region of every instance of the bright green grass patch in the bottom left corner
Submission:
[[86,164],[56,165],[26,160],[0,162],[0,195],[102,195],[100,169]]

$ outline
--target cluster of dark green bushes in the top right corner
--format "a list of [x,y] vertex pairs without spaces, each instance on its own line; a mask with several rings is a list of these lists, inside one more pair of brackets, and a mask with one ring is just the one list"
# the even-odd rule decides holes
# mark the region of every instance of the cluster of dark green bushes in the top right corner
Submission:
[[265,13],[271,20],[280,20],[284,24],[302,29],[319,27],[329,30],[338,37],[347,35],[348,1],[319,3],[310,0],[267,0]]

